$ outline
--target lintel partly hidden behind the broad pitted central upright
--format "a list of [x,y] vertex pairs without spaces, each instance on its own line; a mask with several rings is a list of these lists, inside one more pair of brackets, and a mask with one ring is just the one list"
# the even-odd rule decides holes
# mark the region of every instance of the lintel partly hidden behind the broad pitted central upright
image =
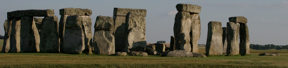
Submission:
[[128,12],[134,13],[143,13],[144,17],[146,17],[146,9],[128,9],[128,8],[114,8],[113,15],[114,16],[126,16]]

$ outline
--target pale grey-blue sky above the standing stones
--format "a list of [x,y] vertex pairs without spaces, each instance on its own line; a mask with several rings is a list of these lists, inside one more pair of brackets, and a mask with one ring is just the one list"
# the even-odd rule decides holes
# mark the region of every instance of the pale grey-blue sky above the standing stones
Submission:
[[[288,0],[0,0],[0,23],[3,25],[7,19],[7,12],[16,10],[54,9],[60,20],[59,9],[81,8],[92,10],[93,27],[97,16],[113,17],[114,7],[147,9],[147,43],[170,43],[178,3],[202,7],[198,44],[206,44],[209,21],[222,22],[222,27],[226,27],[229,17],[244,16],[250,44],[288,45]],[[4,28],[0,28],[0,34],[4,33]]]

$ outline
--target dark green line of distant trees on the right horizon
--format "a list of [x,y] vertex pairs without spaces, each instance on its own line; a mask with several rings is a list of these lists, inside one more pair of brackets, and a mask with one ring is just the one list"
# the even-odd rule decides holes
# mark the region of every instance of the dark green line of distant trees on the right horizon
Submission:
[[266,49],[288,49],[288,45],[274,45],[274,44],[266,44],[266,45],[258,45],[258,44],[250,44],[250,48],[254,50],[266,50]]

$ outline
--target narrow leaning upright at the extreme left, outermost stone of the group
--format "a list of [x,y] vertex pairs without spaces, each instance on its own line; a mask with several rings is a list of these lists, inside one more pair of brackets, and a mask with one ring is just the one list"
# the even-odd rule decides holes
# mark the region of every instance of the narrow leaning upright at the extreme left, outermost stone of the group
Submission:
[[2,47],[1,52],[8,53],[8,51],[10,50],[11,23],[12,23],[12,20],[9,18],[5,20],[4,22],[5,34],[4,34],[3,47]]

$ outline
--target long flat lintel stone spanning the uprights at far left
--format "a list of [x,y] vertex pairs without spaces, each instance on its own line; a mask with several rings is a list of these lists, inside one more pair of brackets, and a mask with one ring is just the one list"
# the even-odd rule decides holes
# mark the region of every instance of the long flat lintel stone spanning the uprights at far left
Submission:
[[38,9],[31,9],[31,10],[18,10],[7,12],[7,18],[12,17],[46,17],[46,16],[54,16],[54,11],[52,9],[46,10],[38,10]]

